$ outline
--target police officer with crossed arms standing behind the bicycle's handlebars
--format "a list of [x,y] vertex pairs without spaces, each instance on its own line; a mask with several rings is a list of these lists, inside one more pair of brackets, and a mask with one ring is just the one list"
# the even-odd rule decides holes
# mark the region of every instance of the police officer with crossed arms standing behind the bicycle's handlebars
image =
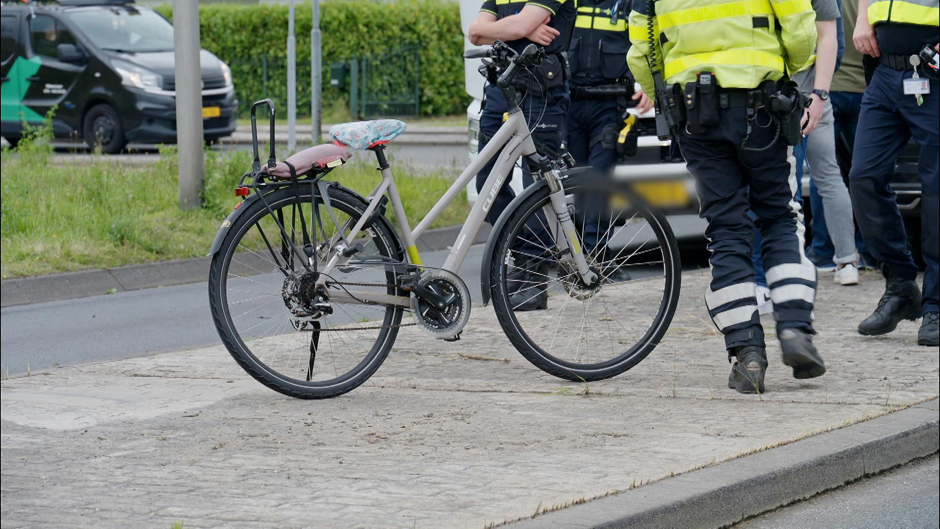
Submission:
[[[477,20],[470,24],[468,32],[470,41],[476,45],[502,40],[516,52],[522,52],[525,46],[531,43],[544,47],[548,58],[531,74],[518,73],[513,84],[517,95],[522,99],[520,106],[523,115],[526,120],[530,120],[529,127],[534,127],[533,139],[540,149],[540,154],[551,158],[557,157],[564,140],[565,115],[571,104],[561,54],[568,49],[571,40],[574,2],[575,0],[485,0],[479,9]],[[488,82],[484,88],[482,106],[479,120],[480,151],[499,130],[503,115],[508,111],[502,92],[494,82]],[[534,122],[535,120],[538,122]],[[486,182],[498,157],[493,156],[493,159],[480,169],[477,175],[477,190]],[[532,183],[532,174],[524,168],[523,184],[527,187]],[[514,196],[507,180],[487,212],[486,220],[495,224]],[[534,233],[525,239],[548,240],[548,234],[542,227],[529,228]],[[542,248],[526,248],[525,244],[523,238],[514,243],[516,254],[535,257],[527,261],[516,261],[509,285],[540,285],[541,288],[539,293],[533,296],[533,287],[527,287],[525,292],[510,295],[509,302],[516,311],[545,309],[548,307],[548,292],[544,288],[544,279],[548,273],[545,269],[547,260],[538,256]],[[519,248],[516,248],[517,245]]]

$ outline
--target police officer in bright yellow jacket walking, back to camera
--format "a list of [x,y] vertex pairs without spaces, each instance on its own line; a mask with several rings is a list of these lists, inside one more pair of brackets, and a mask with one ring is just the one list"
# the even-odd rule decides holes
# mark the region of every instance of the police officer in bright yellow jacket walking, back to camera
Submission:
[[711,251],[705,303],[734,360],[729,388],[740,393],[763,392],[767,368],[750,257],[755,224],[783,363],[797,378],[825,373],[811,340],[816,268],[803,252],[788,157],[788,144],[802,138],[806,96],[776,83],[807,63],[814,21],[808,0],[635,0],[630,15],[630,71],[647,93],[665,78],[657,119],[678,130],[697,182]]

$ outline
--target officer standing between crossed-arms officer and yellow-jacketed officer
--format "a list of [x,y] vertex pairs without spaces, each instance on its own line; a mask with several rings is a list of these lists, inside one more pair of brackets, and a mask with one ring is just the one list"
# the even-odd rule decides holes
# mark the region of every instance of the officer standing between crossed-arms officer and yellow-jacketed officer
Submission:
[[[627,138],[625,134],[627,98],[636,102],[641,113],[652,105],[642,90],[634,92],[634,79],[627,70],[630,5],[631,0],[580,0],[568,48],[572,72],[572,108],[566,127],[568,152],[578,165],[591,166],[602,174],[614,170],[619,146],[630,139],[635,141],[635,135]],[[621,132],[623,141],[619,141]],[[586,218],[584,223],[582,243],[589,255],[605,263],[603,248],[596,248],[605,245],[605,241],[598,240],[602,235],[598,219]],[[615,281],[628,277],[625,270],[616,267],[610,272],[602,268],[602,273]]]

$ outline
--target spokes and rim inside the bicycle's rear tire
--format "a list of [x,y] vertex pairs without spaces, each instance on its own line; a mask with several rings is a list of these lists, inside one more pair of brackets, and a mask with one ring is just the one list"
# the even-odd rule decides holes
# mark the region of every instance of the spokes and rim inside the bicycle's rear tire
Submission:
[[[322,281],[333,284],[323,291],[327,295],[333,288],[341,292],[345,282],[373,285],[356,286],[364,292],[395,295],[397,290],[395,271],[384,264],[337,266],[328,278],[307,271],[297,255],[306,241],[317,252],[312,270],[337,253],[338,243],[348,237],[365,210],[347,192],[331,190],[331,215],[309,187],[300,191],[299,202],[295,190],[288,187],[277,199],[266,198],[268,206],[244,213],[248,217],[243,224],[233,224],[230,232],[235,240],[230,243],[221,286],[227,307],[223,328],[231,329],[244,346],[236,347],[233,354],[250,352],[254,361],[265,366],[262,376],[292,380],[293,387],[305,384],[315,392],[333,387],[337,380],[359,377],[361,365],[367,365],[363,361],[387,354],[392,343],[387,337],[397,332],[403,311],[332,299],[327,300],[327,313],[314,307]],[[397,261],[390,249],[393,241],[390,232],[369,225],[354,242],[363,245],[360,257],[381,262]]]

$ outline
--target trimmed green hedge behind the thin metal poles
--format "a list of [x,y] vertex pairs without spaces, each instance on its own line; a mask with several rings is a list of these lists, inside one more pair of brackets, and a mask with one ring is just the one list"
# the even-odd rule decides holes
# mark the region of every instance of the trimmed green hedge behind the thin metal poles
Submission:
[[[172,7],[157,8],[172,19]],[[463,35],[460,8],[451,0],[328,0],[320,5],[324,113],[346,104],[346,89],[329,86],[329,66],[352,56],[382,55],[402,44],[420,45],[420,114],[462,113]],[[232,68],[236,93],[247,116],[252,101],[270,97],[278,109],[287,101],[288,6],[284,4],[199,6],[202,46]],[[298,2],[297,115],[310,114],[310,5]],[[266,60],[265,59],[266,56]],[[267,93],[263,63],[267,63]],[[285,116],[283,111],[279,116]]]

